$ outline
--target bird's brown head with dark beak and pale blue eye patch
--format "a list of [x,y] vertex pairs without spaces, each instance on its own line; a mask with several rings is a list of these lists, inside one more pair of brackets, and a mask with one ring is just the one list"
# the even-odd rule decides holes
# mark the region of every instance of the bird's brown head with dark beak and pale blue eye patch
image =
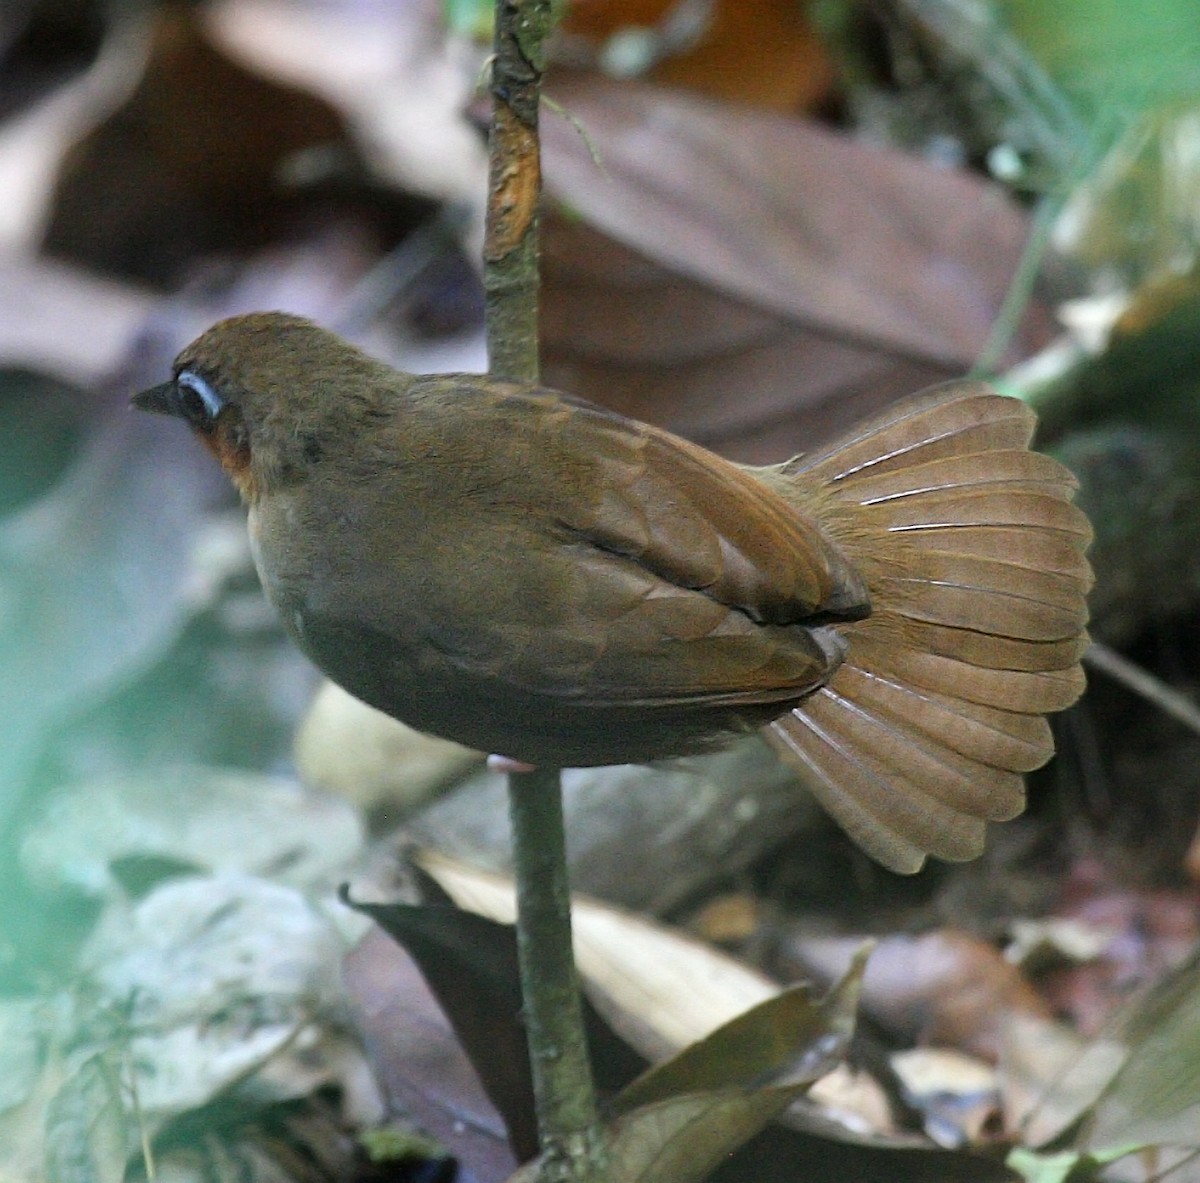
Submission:
[[254,312],[197,337],[172,379],[134,395],[133,406],[187,422],[253,502],[304,479],[397,377],[311,320]]

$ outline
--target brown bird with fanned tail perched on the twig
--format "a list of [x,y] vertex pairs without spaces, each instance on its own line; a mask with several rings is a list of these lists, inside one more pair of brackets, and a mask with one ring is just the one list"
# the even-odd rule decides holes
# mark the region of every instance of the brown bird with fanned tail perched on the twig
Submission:
[[1091,527],[977,380],[740,466],[569,394],[410,374],[300,317],[186,346],[133,404],[247,505],[299,648],[425,732],[535,765],[761,731],[871,857],[977,857],[1084,690]]

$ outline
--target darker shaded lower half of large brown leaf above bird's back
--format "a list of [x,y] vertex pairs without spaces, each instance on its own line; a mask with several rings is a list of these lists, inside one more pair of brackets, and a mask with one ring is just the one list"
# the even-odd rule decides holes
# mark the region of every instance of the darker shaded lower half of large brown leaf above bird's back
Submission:
[[812,332],[562,217],[542,241],[546,383],[734,460],[805,451],[953,373]]

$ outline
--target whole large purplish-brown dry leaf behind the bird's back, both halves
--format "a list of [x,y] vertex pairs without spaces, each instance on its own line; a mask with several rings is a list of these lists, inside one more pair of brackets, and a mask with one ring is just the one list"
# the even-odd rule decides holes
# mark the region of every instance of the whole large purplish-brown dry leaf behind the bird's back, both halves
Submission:
[[[1026,236],[997,187],[652,86],[550,94],[602,161],[542,121],[572,214],[546,234],[551,384],[762,460],[976,360]],[[1045,338],[1034,310],[1014,354]]]

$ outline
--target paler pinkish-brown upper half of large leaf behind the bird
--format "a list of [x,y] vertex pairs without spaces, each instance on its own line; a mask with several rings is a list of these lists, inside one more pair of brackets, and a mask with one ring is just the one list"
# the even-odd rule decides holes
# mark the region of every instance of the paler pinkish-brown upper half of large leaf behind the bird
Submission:
[[600,155],[546,120],[547,186],[589,224],[815,329],[974,360],[1027,234],[998,186],[803,119],[632,83],[550,89]]

